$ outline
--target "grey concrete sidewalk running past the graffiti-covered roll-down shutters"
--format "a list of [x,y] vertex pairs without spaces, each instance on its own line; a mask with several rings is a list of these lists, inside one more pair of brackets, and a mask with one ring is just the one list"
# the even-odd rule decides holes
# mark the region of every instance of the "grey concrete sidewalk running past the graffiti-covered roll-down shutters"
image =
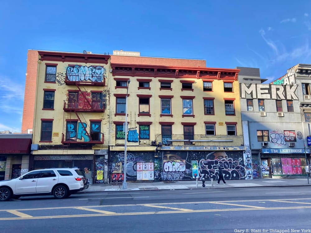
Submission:
[[141,191],[141,190],[177,190],[177,189],[217,189],[217,188],[245,188],[245,187],[282,187],[282,186],[311,186],[311,178],[309,184],[307,178],[295,179],[254,179],[254,180],[226,180],[226,185],[217,180],[205,181],[205,187],[202,187],[202,181],[160,181],[154,183],[132,183],[127,182],[127,190],[122,190],[122,183],[119,184],[92,184],[89,188],[81,192],[110,192],[110,191]]

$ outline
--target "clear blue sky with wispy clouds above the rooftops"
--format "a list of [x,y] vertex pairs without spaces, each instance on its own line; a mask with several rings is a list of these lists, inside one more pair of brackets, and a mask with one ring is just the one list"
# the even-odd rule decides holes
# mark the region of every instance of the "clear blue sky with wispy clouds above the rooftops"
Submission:
[[21,132],[28,49],[206,60],[277,79],[311,63],[310,1],[1,1],[0,131]]

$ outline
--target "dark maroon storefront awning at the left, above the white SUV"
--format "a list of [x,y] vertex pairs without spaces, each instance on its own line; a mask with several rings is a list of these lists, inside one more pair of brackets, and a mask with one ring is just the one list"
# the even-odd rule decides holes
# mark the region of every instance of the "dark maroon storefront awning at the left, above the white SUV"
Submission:
[[27,154],[30,145],[30,138],[0,138],[0,154]]

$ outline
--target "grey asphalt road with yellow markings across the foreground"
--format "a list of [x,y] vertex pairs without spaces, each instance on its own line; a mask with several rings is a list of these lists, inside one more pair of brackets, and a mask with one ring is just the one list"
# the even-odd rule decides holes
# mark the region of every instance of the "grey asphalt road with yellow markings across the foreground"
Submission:
[[311,232],[310,194],[257,187],[23,197],[0,203],[0,231]]

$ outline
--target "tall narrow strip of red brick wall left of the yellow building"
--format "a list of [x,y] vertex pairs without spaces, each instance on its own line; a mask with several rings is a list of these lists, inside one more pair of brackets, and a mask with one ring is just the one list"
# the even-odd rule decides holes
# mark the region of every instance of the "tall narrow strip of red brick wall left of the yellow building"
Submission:
[[21,126],[22,133],[27,133],[27,130],[32,129],[33,126],[37,67],[38,51],[28,50],[23,119]]

